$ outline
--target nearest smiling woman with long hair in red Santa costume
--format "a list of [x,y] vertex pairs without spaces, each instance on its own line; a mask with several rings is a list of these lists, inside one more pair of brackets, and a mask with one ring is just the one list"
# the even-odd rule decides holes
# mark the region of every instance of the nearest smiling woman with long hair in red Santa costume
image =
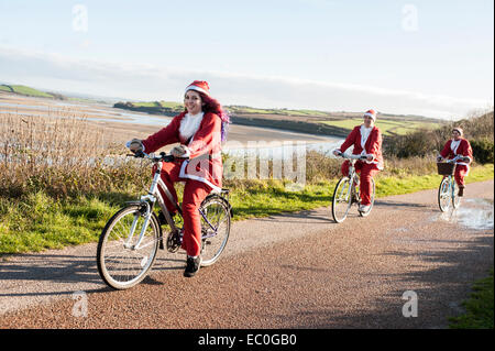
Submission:
[[[165,163],[162,179],[177,201],[174,183],[185,182],[183,196],[184,237],[183,249],[187,252],[184,276],[194,276],[201,264],[201,221],[199,206],[207,195],[222,187],[221,142],[222,122],[228,116],[221,105],[210,97],[207,81],[195,80],[187,86],[184,96],[185,111],[174,117],[172,122],[145,140],[133,139],[129,149],[146,153],[174,143],[170,154],[174,163]],[[170,213],[175,206],[162,194]]]

